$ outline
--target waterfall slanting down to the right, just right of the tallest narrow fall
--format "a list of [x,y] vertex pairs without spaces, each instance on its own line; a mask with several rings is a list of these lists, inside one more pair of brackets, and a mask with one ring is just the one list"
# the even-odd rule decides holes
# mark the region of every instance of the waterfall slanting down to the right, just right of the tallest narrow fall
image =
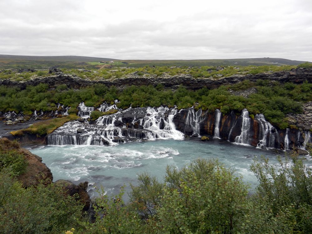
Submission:
[[[257,148],[262,147],[274,148],[276,129],[272,126],[272,124],[266,121],[263,114],[257,114],[255,116],[255,119],[259,120],[260,122],[260,134],[259,134],[260,142],[257,144]],[[274,131],[274,133],[271,132],[272,130]]]

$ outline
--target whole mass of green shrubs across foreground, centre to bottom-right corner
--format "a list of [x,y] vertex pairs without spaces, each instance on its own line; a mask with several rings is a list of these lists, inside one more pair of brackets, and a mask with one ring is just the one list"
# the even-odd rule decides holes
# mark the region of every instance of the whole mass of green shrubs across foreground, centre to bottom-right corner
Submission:
[[[90,233],[311,233],[311,169],[302,159],[267,159],[251,166],[259,180],[253,195],[232,169],[216,160],[197,159],[181,169],[167,167],[165,183],[148,173],[131,185],[96,201]],[[138,215],[141,219],[138,219]]]

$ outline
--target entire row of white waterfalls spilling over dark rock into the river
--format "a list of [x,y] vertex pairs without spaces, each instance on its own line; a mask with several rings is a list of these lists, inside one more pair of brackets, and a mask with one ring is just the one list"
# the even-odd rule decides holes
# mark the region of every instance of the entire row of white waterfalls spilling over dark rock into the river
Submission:
[[[183,110],[183,115],[181,117],[174,118],[174,116],[181,113],[182,110],[178,111],[176,107],[168,108],[163,106],[158,108],[144,107],[121,110],[117,108],[117,103],[117,100],[115,100],[113,105],[103,103],[100,107],[103,112],[110,109],[117,109],[118,112],[111,115],[104,115],[93,122],[93,124],[87,121],[80,122],[81,120],[64,124],[47,136],[48,144],[116,145],[118,143],[144,139],[181,140],[184,139],[184,134],[176,129],[173,119],[174,121],[181,121],[181,117],[185,116],[183,117],[185,133],[189,135],[198,134],[198,136],[200,136],[201,123],[207,117],[206,113],[203,113],[201,109],[195,111],[194,108],[188,108]],[[84,103],[80,103],[78,109],[78,115],[87,118],[91,111],[94,110],[94,107],[88,107],[85,106]],[[214,138],[219,139],[221,114],[220,110],[215,111]],[[34,115],[37,115],[37,112],[35,112]],[[279,139],[277,130],[266,121],[264,115],[256,115],[255,119],[258,120],[259,123],[259,135],[257,137],[260,142],[257,148],[274,148],[275,141]],[[246,109],[242,110],[241,116],[236,119],[230,130],[229,137],[232,136],[233,129],[239,134],[239,129],[237,129],[238,123],[242,124],[241,132],[239,136],[236,135],[234,142],[244,145],[251,144],[251,118]],[[289,149],[290,140],[288,139],[288,134],[289,129],[286,130],[284,139],[285,149]],[[301,148],[305,148],[306,144],[311,139],[309,131],[307,131],[305,135],[305,142]],[[233,139],[231,138],[231,140]]]

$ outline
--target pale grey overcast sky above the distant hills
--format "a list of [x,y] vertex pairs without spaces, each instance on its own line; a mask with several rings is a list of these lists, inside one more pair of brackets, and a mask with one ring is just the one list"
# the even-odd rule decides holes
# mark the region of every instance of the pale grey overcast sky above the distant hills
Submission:
[[0,54],[312,61],[312,0],[0,0]]

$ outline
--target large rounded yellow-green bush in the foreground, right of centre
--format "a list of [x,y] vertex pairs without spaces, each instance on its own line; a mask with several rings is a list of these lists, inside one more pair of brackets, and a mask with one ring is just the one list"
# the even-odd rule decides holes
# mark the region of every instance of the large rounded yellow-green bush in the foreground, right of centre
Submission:
[[248,190],[235,172],[217,161],[197,159],[167,167],[158,227],[165,233],[238,233],[248,211]]

